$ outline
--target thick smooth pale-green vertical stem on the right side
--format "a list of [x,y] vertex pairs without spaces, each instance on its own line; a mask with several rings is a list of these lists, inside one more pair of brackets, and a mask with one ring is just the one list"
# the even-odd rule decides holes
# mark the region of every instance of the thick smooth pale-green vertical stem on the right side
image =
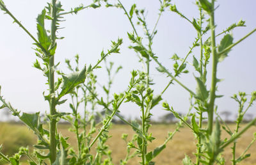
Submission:
[[211,49],[212,49],[212,82],[210,91],[210,102],[208,109],[208,132],[212,133],[212,123],[214,114],[214,102],[215,102],[215,91],[217,83],[217,64],[218,64],[218,54],[216,53],[216,43],[215,43],[215,24],[214,24],[214,0],[212,0],[212,10],[210,13],[210,25],[211,25]]

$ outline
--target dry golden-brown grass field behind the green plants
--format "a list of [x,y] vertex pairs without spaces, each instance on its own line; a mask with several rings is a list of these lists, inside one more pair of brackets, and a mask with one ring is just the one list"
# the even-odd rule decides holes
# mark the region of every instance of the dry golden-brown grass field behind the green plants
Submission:
[[[76,136],[72,132],[68,132],[69,125],[59,125],[58,131],[63,134],[64,136],[69,136],[70,139],[68,140],[69,143],[74,144],[74,149],[76,150]],[[230,124],[231,128],[234,128],[234,124]],[[244,126],[244,125],[243,125]],[[12,143],[12,141],[17,137],[13,134],[8,134],[6,132],[6,128],[9,127],[12,130],[19,130],[17,133],[20,133],[20,130],[24,130],[22,132],[28,132],[26,130],[26,127],[22,125],[10,125],[7,123],[0,123],[0,143]],[[153,125],[149,132],[152,132],[153,136],[156,138],[152,143],[148,145],[148,150],[153,150],[157,146],[161,145],[166,136],[168,131],[173,131],[175,128],[175,125]],[[243,150],[246,148],[246,146],[250,143],[250,141],[253,138],[253,132],[256,132],[256,128],[253,127],[246,132],[241,139],[239,139],[239,143],[237,143],[237,156],[239,156]],[[127,126],[127,125],[113,125],[111,130],[109,131],[109,134],[112,136],[112,138],[109,139],[108,145],[112,150],[112,156],[113,156],[113,163],[119,164],[120,159],[124,159],[126,154],[126,145],[124,140],[121,139],[122,133],[129,134],[128,140],[132,138],[132,135],[134,134],[133,130]],[[225,134],[222,131],[223,138],[228,138],[227,134]],[[31,133],[30,133],[31,134]],[[25,136],[25,135],[22,135]],[[6,141],[6,139],[9,139],[9,142]],[[189,130],[187,127],[181,128],[180,132],[177,132],[173,139],[169,141],[167,147],[164,149],[163,152],[160,153],[154,161],[156,164],[182,164],[182,159],[184,158],[184,154],[186,153],[191,157],[193,160],[195,160],[195,156],[193,153],[196,151],[195,147],[195,139],[193,134],[191,133],[191,130]],[[3,144],[6,145],[6,144]],[[93,150],[92,150],[93,152]],[[251,157],[248,159],[245,159],[243,163],[241,164],[256,164],[256,144],[250,148],[248,153],[251,153]],[[227,161],[226,164],[230,164],[229,160],[231,159],[231,149],[230,147],[225,150],[223,153],[225,156],[225,159]],[[131,159],[131,161],[128,162],[128,164],[138,164],[139,158],[134,157],[134,159]]]

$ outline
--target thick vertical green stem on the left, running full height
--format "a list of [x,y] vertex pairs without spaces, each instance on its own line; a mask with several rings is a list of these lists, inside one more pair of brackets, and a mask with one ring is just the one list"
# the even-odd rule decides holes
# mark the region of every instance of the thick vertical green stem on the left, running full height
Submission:
[[[52,22],[51,22],[51,45],[56,43],[56,0],[52,0]],[[54,86],[54,55],[49,59],[49,91],[50,91],[50,114],[51,116],[56,114],[56,98],[55,98],[55,86]],[[56,160],[56,119],[51,118],[50,121],[50,160],[51,164]]]

